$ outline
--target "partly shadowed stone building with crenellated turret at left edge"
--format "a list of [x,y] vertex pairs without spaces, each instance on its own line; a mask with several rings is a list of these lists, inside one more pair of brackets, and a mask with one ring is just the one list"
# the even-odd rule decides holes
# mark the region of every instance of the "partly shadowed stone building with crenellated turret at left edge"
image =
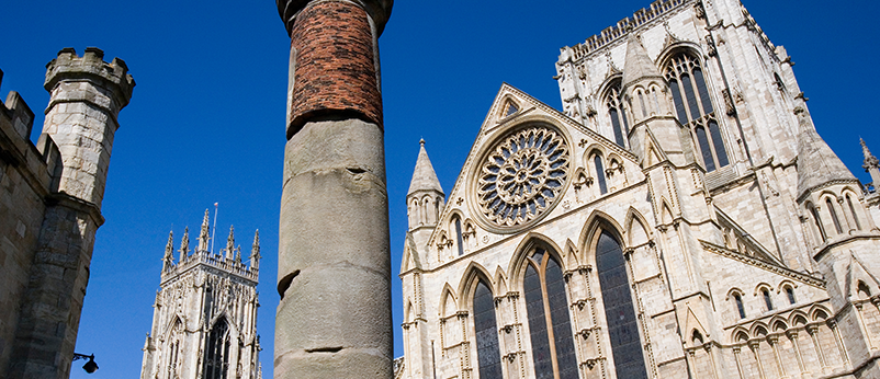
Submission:
[[[36,145],[16,93],[0,104],[0,377],[67,378],[120,111],[135,82],[122,59],[65,48]],[[0,73],[0,78],[2,74]]]

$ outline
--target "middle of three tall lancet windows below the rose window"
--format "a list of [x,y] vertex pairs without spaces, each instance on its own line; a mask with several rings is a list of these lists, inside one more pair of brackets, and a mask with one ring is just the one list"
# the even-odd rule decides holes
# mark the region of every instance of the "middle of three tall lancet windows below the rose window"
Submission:
[[535,379],[577,379],[568,300],[559,262],[539,248],[526,260],[522,280]]

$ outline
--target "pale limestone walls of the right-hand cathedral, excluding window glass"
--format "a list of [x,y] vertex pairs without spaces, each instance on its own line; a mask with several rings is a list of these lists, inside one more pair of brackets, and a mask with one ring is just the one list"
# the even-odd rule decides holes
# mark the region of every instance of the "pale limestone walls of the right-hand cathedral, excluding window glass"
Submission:
[[[684,48],[702,60],[729,166],[706,174],[701,164],[688,164],[687,159],[670,157],[681,163],[669,164],[613,143],[602,96],[621,77],[625,28],[633,20],[639,21],[631,33],[641,36],[658,68]],[[611,345],[602,335],[609,320],[593,268],[591,233],[598,227],[621,237],[648,377],[877,374],[876,196],[862,199],[848,182],[828,183],[809,194],[816,204],[833,199],[842,229],[836,232],[830,210],[820,207],[830,232],[826,240],[816,240],[803,199],[797,198],[793,111],[800,88],[785,49],[769,42],[738,1],[655,2],[584,44],[563,48],[557,74],[563,113],[577,123],[503,87],[449,191],[437,228],[410,230],[420,238],[407,240],[402,265],[402,378],[433,378],[435,372],[442,379],[478,377],[471,311],[480,277],[490,284],[496,298],[504,377],[534,378],[520,265],[534,243],[553,251],[566,273],[582,378],[614,378]],[[508,102],[519,113],[499,114]],[[487,225],[474,199],[481,159],[506,130],[535,120],[563,130],[573,157],[571,179],[540,221],[515,230]],[[648,117],[645,125],[659,128],[665,122]],[[596,152],[609,160],[616,157],[622,169],[608,173],[607,194],[600,194],[595,182]],[[847,195],[855,202],[855,215]],[[453,216],[475,225],[462,256],[449,223]],[[860,292],[859,283],[868,289]],[[745,318],[733,294],[741,296]]]

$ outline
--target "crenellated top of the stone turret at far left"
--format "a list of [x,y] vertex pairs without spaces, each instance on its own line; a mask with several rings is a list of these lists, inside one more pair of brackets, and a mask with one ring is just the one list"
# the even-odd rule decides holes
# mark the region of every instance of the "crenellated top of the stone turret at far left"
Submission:
[[121,110],[128,105],[135,87],[134,78],[128,73],[128,66],[120,58],[111,62],[104,61],[104,51],[97,47],[87,47],[82,57],[76,49],[65,47],[58,57],[46,65],[46,82],[44,88],[52,92],[58,82],[64,80],[91,79],[102,87],[113,87],[116,102]]

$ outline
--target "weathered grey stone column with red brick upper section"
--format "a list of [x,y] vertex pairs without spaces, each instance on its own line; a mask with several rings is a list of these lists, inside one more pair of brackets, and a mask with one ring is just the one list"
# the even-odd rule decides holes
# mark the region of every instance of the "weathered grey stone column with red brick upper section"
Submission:
[[277,0],[291,35],[275,378],[391,378],[377,38],[392,0]]

